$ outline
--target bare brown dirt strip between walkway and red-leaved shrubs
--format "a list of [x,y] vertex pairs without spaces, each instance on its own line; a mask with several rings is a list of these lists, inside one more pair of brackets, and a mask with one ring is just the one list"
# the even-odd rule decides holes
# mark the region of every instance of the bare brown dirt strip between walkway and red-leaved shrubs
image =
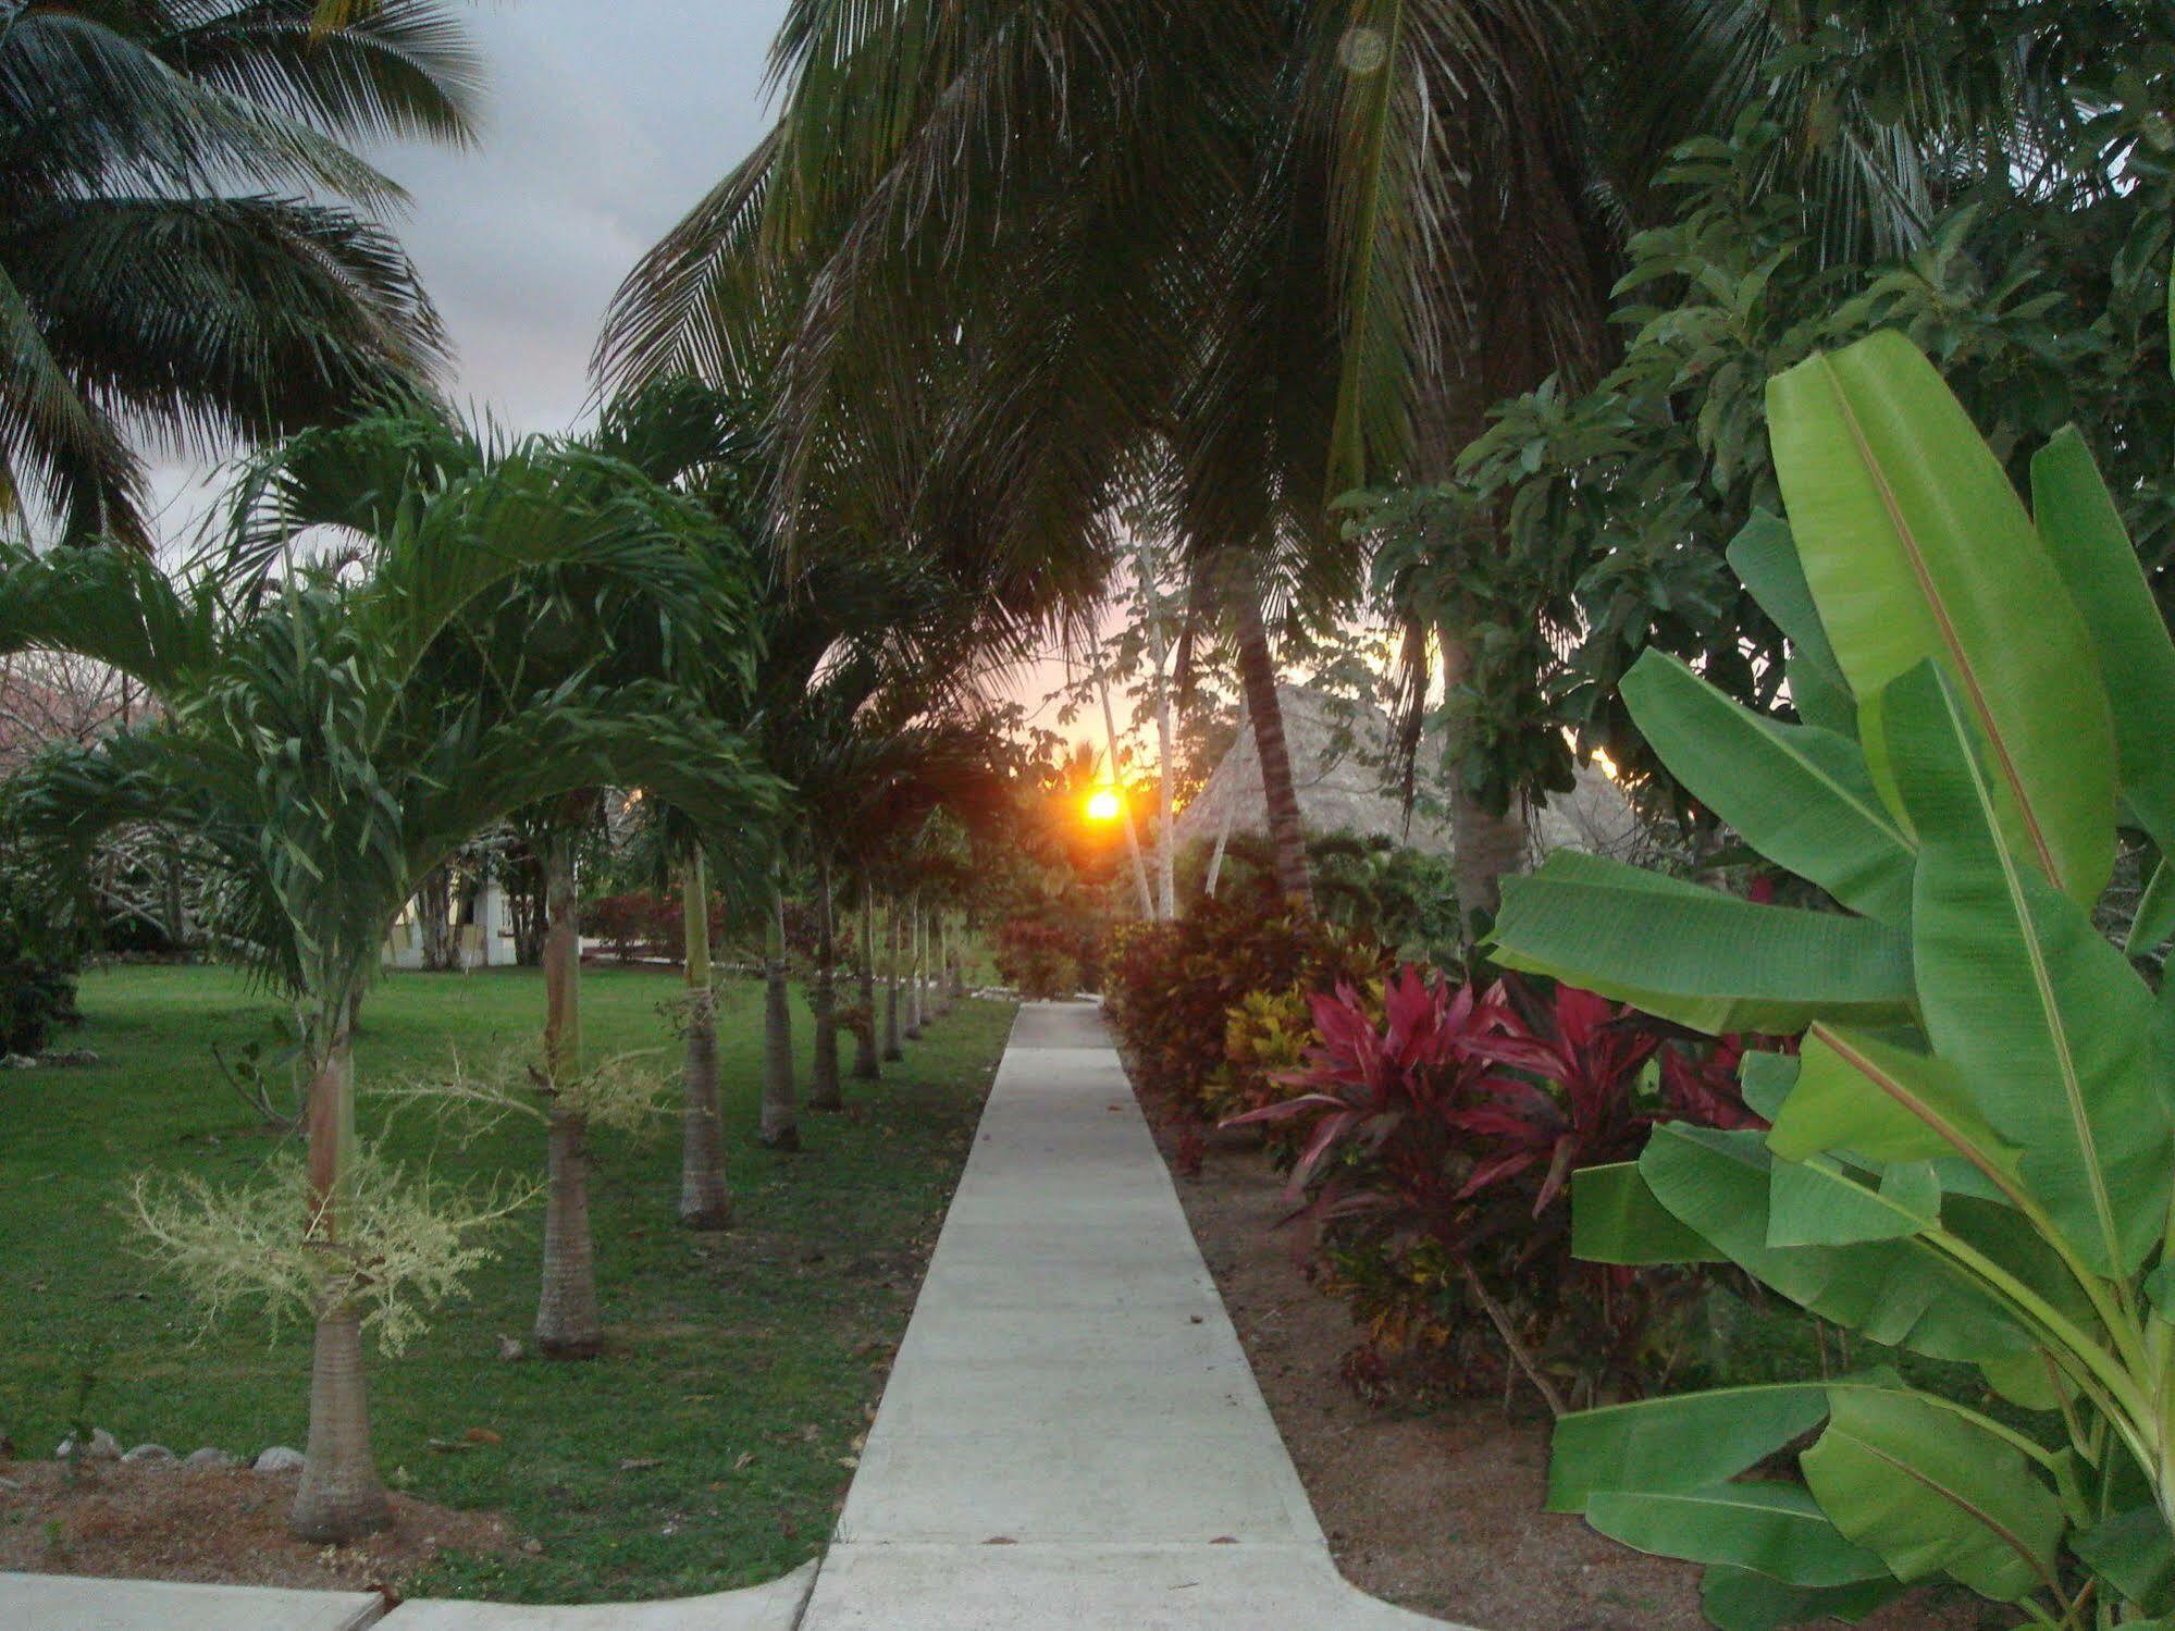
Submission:
[[[1161,1122],[1151,1107],[1151,1120]],[[1177,1140],[1157,1129],[1170,1159]],[[1549,1429],[1501,1400],[1377,1405],[1338,1374],[1357,1331],[1307,1281],[1277,1220],[1283,1181],[1244,1135],[1179,1176],[1194,1240],[1298,1464],[1338,1568],[1362,1590],[1486,1631],[1705,1631],[1699,1568],[1542,1511]],[[1525,1409],[1529,1400],[1520,1400]],[[1866,1631],[1977,1631],[1975,1601],[1892,1603]]]

